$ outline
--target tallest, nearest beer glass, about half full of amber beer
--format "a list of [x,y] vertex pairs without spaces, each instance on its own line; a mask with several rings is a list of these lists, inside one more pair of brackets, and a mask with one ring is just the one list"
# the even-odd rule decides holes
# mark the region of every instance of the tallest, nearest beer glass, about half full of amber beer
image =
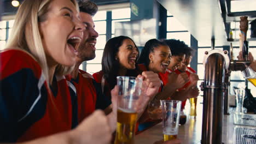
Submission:
[[133,144],[137,122],[136,109],[142,97],[142,80],[136,77],[118,76],[118,112],[115,144]]

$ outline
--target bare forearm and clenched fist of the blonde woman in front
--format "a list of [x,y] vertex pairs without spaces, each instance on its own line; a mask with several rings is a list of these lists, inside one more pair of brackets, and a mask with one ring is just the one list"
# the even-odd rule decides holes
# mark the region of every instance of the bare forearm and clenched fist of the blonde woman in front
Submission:
[[107,117],[104,115],[104,112],[97,110],[73,130],[17,144],[109,143],[111,134]]

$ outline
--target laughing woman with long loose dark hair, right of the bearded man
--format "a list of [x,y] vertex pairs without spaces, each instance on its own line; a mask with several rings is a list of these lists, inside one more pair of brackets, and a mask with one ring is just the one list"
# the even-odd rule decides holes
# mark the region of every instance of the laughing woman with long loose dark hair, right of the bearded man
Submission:
[[[138,55],[138,48],[129,37],[119,36],[107,41],[101,61],[102,70],[92,75],[96,82],[102,83],[104,94],[110,97],[110,89],[117,84],[117,76],[136,77],[141,74],[150,88],[161,85],[157,74],[152,71],[141,73],[138,70],[136,66]],[[156,94],[157,91],[153,93]]]

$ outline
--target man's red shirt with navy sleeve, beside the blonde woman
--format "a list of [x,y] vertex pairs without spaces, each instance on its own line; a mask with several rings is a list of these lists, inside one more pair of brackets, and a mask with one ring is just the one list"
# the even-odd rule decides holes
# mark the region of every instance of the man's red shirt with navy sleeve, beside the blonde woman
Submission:
[[77,90],[78,99],[78,122],[83,121],[95,109],[106,109],[111,101],[105,97],[101,90],[101,83],[96,83],[94,77],[86,71],[80,70],[76,79],[66,76]]

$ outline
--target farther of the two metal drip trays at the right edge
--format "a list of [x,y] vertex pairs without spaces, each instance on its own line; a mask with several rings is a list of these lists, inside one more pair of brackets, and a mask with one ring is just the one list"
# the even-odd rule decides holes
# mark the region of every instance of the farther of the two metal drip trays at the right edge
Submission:
[[234,124],[256,127],[256,115],[234,115]]

